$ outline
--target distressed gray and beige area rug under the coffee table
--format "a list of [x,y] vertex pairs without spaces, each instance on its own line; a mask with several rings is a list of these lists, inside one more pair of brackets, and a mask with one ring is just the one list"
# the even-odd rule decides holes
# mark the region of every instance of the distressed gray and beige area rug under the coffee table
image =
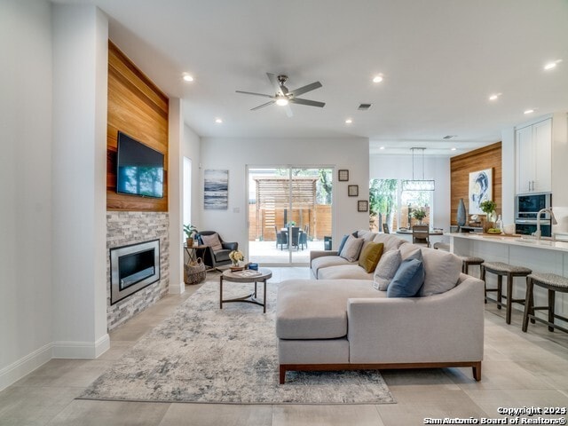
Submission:
[[[246,295],[253,287],[226,283],[224,298]],[[261,293],[261,284],[258,289]],[[206,282],[79,398],[224,404],[395,402],[375,370],[288,372],[280,385],[276,290],[276,283],[268,284],[265,314],[262,307],[243,303],[224,304],[220,310],[219,284]]]

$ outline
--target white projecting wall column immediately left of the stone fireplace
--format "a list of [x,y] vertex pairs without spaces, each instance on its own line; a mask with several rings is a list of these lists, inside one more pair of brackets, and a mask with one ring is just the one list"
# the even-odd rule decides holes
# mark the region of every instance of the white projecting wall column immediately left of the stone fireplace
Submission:
[[106,334],[108,22],[53,5],[53,356],[96,358]]

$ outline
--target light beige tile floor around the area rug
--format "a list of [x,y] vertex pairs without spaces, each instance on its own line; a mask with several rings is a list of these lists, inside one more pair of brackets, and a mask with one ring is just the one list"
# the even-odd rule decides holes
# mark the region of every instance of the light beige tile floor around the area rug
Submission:
[[[272,268],[273,279],[308,277],[307,268]],[[215,274],[209,274],[215,280]],[[424,418],[500,418],[499,407],[568,407],[568,334],[541,324],[521,331],[494,304],[485,310],[483,379],[470,368],[385,371],[398,404],[380,406],[247,406],[104,402],[75,399],[114,359],[159,324],[198,286],[170,295],[111,333],[99,359],[52,359],[0,392],[0,425],[375,425],[424,424]],[[559,415],[553,417],[560,417]]]

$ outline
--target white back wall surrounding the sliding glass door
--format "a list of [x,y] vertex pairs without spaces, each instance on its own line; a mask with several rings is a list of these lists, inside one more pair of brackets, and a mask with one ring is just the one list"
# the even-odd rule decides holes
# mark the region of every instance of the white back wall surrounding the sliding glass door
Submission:
[[[368,229],[368,212],[357,211],[357,200],[368,200],[368,139],[202,138],[199,193],[200,229],[215,230],[225,241],[248,241],[247,166],[332,166],[347,169],[349,182],[334,185],[334,244],[344,233]],[[229,208],[202,210],[203,170],[229,170]],[[359,197],[348,197],[347,185],[359,185]],[[246,255],[246,254],[245,254]]]

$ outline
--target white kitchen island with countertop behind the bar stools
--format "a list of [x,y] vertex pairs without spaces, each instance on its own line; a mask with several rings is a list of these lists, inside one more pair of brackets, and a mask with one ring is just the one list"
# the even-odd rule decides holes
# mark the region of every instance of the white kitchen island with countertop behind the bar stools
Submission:
[[[505,262],[531,268],[534,272],[551,272],[568,277],[568,242],[566,241],[535,240],[487,233],[446,235],[450,237],[450,251],[456,255],[479,256],[486,262]],[[486,279],[489,288],[496,286],[497,279],[493,274],[488,274]],[[515,279],[513,297],[524,299],[525,291],[525,280]],[[547,291],[544,288],[534,288],[534,302],[537,305],[548,304]],[[513,304],[513,308],[522,311],[524,306]],[[556,293],[556,312],[564,316],[568,313],[567,294]],[[544,312],[537,314],[545,318]]]

